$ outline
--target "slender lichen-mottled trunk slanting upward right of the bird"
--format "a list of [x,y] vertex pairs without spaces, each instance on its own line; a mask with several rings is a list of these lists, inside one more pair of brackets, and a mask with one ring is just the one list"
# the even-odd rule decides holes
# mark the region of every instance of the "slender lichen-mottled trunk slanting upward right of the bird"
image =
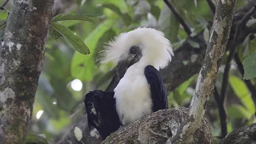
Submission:
[[210,32],[210,41],[207,44],[206,56],[190,102],[188,118],[180,126],[178,133],[173,138],[168,139],[166,143],[191,143],[194,139],[195,130],[201,126],[229,40],[235,4],[236,0],[218,1]]

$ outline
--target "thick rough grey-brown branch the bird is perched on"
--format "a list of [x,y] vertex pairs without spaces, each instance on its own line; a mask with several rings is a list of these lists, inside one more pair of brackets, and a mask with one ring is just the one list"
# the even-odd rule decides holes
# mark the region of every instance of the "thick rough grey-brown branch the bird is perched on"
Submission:
[[[186,115],[186,108],[159,110],[154,114],[144,116],[128,126],[122,126],[107,137],[102,144],[165,143],[168,138],[177,134],[179,126],[186,119]],[[194,142],[192,143],[211,143],[210,124],[206,119],[203,120],[199,127],[193,134]]]

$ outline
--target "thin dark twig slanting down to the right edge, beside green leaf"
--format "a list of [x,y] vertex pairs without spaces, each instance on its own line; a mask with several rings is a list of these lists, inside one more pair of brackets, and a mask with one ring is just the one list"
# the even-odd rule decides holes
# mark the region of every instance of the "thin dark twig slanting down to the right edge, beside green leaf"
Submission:
[[[234,61],[237,63],[238,70],[239,70],[240,74],[242,74],[242,76],[243,76],[245,74],[245,70],[243,69],[242,62],[237,53],[234,54]],[[243,81],[246,83],[246,86],[250,90],[251,98],[253,99],[254,106],[256,107],[256,88],[250,80],[243,79]]]

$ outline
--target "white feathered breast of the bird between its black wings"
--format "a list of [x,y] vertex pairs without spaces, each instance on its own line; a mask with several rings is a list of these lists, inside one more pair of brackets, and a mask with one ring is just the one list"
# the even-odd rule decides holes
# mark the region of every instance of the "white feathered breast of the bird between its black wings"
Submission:
[[124,77],[114,89],[116,108],[123,125],[152,113],[150,86],[144,75],[144,69],[130,66]]

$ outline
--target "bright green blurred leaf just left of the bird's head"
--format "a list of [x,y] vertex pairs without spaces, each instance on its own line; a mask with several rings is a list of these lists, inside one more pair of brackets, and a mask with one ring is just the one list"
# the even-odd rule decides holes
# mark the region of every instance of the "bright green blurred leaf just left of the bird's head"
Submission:
[[113,26],[114,21],[106,20],[102,24],[98,25],[94,31],[92,31],[86,38],[85,42],[87,46],[90,46],[92,54],[84,57],[77,52],[74,53],[71,62],[71,75],[74,78],[78,78],[81,81],[91,81],[94,77],[95,70],[97,70],[94,63],[94,49],[98,43],[99,38],[102,37],[107,30]]

